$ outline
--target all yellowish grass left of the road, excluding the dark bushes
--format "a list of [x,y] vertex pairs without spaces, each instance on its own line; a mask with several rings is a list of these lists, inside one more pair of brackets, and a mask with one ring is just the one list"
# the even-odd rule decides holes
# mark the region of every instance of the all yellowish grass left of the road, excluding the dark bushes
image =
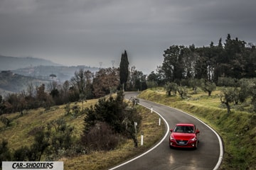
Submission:
[[[97,100],[88,100],[85,105],[88,107],[94,105],[96,102]],[[75,104],[80,105],[80,103],[71,103],[70,108]],[[44,108],[24,111],[23,116],[20,115],[21,113],[1,115],[1,117],[11,120],[11,123],[6,128],[6,125],[0,121],[0,142],[3,139],[8,140],[8,147],[11,148],[12,152],[21,146],[30,146],[33,143],[33,132],[36,132],[42,126],[46,126],[50,121],[58,120],[59,118],[64,118],[68,125],[75,127],[73,134],[79,140],[82,129],[84,128],[83,119],[85,115],[79,115],[76,118],[73,115],[67,116],[65,115],[64,107],[55,106],[48,111],[45,111]],[[81,105],[80,108],[82,108]],[[149,147],[161,139],[166,130],[164,124],[161,126],[158,125],[158,115],[152,114],[142,106],[137,106],[137,109],[143,118],[142,126],[140,127],[140,130],[144,132],[143,146],[134,148],[132,140],[125,140],[110,152],[92,152],[90,154],[79,154],[69,157],[63,156],[55,161],[63,161],[65,170],[107,169],[149,149]],[[141,132],[138,132],[138,141],[140,141],[140,134]]]

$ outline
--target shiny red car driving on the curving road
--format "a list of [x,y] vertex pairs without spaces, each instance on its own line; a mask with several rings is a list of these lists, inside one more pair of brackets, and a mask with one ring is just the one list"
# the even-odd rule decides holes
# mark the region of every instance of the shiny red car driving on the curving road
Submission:
[[178,123],[171,129],[169,137],[170,147],[197,148],[199,142],[199,130],[192,123]]

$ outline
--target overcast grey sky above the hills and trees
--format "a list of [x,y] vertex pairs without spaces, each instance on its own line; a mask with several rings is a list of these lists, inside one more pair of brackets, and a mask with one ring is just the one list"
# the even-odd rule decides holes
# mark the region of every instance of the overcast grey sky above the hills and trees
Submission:
[[255,0],[0,0],[0,55],[145,74],[171,45],[256,42]]

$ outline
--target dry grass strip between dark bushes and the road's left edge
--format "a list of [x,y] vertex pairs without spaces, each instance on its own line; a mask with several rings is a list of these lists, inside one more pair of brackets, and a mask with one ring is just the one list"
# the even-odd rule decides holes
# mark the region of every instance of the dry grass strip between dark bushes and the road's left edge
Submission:
[[[142,126],[137,136],[139,147],[135,148],[132,140],[126,140],[126,142],[119,145],[117,149],[110,152],[93,152],[92,154],[82,155],[80,157],[63,158],[61,160],[65,162],[65,170],[108,169],[145,152],[146,149],[156,144],[164,135],[164,124],[161,126],[158,125],[159,116],[155,113],[151,113],[146,108],[142,108],[142,106],[137,107],[143,117]],[[144,145],[140,146],[140,134],[142,131],[144,132]]]

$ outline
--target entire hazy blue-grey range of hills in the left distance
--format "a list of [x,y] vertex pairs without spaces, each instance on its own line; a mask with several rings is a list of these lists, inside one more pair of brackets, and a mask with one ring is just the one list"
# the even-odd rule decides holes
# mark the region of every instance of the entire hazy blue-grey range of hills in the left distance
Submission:
[[0,95],[26,91],[28,84],[40,86],[50,81],[62,84],[79,69],[97,72],[99,68],[84,65],[67,67],[33,57],[6,57],[0,55]]

